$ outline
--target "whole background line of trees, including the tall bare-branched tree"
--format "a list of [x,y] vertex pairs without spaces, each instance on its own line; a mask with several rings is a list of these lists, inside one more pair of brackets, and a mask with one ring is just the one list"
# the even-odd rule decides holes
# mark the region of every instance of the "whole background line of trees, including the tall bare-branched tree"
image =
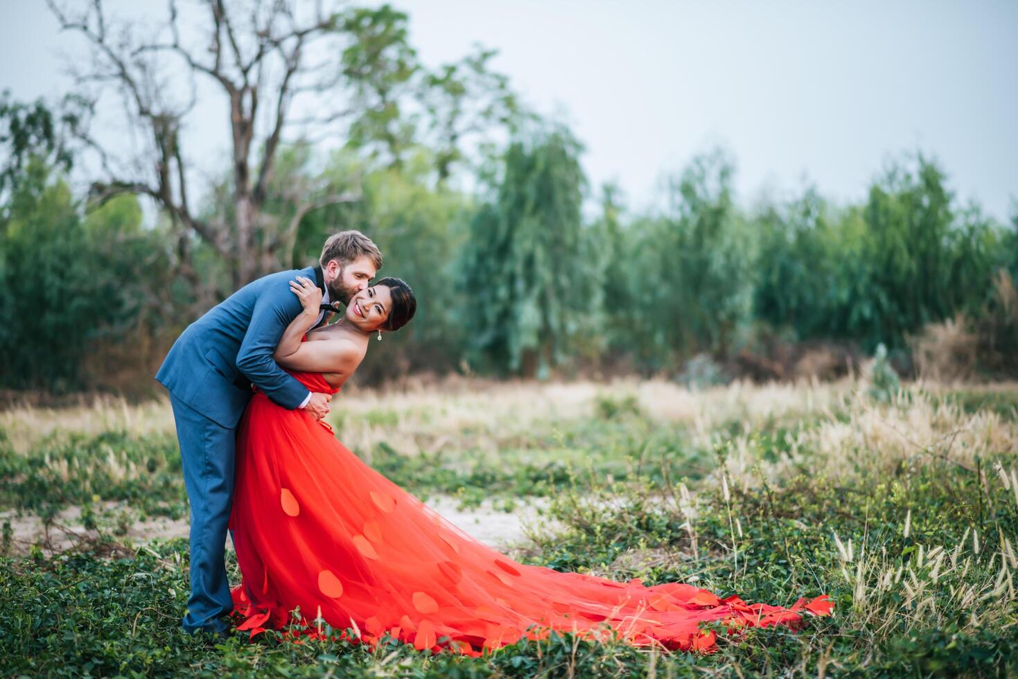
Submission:
[[[1018,211],[1001,223],[961,204],[930,158],[874,164],[859,204],[807,187],[747,205],[734,159],[712,151],[634,212],[588,184],[579,140],[519,102],[495,52],[432,69],[392,7],[297,5],[217,3],[187,25],[169,11],[156,33],[101,3],[52,5],[90,51],[82,79],[106,89],[0,98],[0,389],[153,393],[187,323],[349,228],[419,301],[373,346],[365,382],[828,378],[880,344],[906,374],[1018,373]],[[335,63],[307,61],[312,43]],[[173,97],[200,79],[231,130],[211,185],[195,169],[207,150],[181,133],[192,102]],[[308,96],[321,115],[298,119]],[[103,111],[133,130],[133,155],[97,139]],[[342,144],[327,153],[316,135]]]

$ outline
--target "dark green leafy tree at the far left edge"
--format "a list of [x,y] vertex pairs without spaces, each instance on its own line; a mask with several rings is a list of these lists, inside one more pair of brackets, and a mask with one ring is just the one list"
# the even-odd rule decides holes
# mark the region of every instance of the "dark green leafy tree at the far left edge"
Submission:
[[134,196],[82,219],[59,172],[38,157],[15,186],[0,219],[0,312],[10,321],[0,325],[0,385],[87,387],[83,358],[159,301],[162,248],[140,230]]

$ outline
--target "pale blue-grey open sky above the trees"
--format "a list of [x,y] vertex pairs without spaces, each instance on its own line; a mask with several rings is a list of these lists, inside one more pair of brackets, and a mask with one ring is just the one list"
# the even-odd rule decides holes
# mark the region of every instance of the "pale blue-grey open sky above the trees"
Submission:
[[[165,0],[129,4],[165,16]],[[426,64],[476,42],[499,49],[494,66],[524,101],[585,145],[591,186],[616,181],[630,208],[653,205],[664,172],[721,145],[744,204],[805,181],[862,200],[889,159],[921,150],[963,203],[1018,213],[1018,1],[392,4],[409,12]],[[81,54],[80,43],[58,35],[42,0],[0,7],[0,90],[66,90],[59,54]],[[222,124],[192,132],[222,146]]]

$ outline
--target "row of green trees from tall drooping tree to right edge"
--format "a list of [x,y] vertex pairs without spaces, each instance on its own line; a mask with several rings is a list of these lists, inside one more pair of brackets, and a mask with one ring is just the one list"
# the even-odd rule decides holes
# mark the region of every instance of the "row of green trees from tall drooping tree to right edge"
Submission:
[[885,344],[907,374],[921,349],[944,377],[953,361],[970,369],[957,377],[1015,375],[1018,215],[960,206],[921,154],[886,167],[859,205],[808,187],[743,208],[735,164],[715,151],[667,177],[662,209],[627,213],[606,186],[584,223],[575,153],[563,131],[514,144],[472,217],[467,289],[489,293],[467,304],[475,364],[834,377]]

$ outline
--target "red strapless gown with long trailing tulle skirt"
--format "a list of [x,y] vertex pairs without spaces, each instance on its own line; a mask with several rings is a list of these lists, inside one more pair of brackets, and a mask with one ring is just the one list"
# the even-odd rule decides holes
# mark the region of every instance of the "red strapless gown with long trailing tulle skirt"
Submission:
[[[321,375],[294,377],[338,391]],[[795,625],[831,611],[827,597],[779,608],[516,563],[361,462],[327,426],[261,393],[237,433],[230,526],[242,574],[235,614],[251,635],[299,607],[310,633],[321,615],[369,643],[388,632],[421,649],[475,655],[552,628],[597,637],[610,627],[637,645],[709,652],[714,632],[700,623]]]

